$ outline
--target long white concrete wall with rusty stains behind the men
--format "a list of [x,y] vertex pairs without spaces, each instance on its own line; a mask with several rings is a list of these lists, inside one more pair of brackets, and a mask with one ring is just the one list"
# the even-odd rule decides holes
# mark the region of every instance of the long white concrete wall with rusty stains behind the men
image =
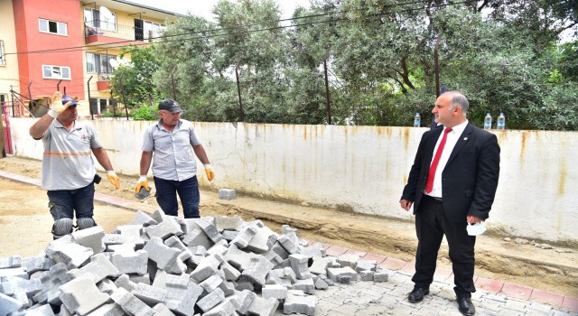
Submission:
[[[42,159],[31,118],[11,118],[14,154]],[[144,128],[152,122],[91,122],[117,172],[136,175]],[[194,123],[216,177],[200,185],[305,201],[388,218],[398,204],[426,128]],[[486,223],[508,236],[578,243],[577,132],[495,131],[501,171]],[[203,172],[204,173],[204,172]],[[133,185],[126,183],[124,185]]]

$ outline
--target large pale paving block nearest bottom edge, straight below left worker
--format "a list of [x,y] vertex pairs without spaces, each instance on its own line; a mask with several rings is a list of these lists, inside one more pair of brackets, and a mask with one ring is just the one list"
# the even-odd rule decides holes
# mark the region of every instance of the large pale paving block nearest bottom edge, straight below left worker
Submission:
[[70,312],[86,315],[108,301],[110,296],[98,291],[94,279],[87,273],[61,285],[59,297]]

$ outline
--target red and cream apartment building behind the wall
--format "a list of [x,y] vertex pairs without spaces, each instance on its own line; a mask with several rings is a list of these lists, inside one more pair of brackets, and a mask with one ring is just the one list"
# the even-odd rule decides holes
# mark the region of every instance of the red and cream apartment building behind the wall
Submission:
[[58,90],[79,99],[79,115],[98,115],[117,102],[108,81],[122,47],[154,43],[177,16],[124,0],[0,0],[5,114],[42,116]]

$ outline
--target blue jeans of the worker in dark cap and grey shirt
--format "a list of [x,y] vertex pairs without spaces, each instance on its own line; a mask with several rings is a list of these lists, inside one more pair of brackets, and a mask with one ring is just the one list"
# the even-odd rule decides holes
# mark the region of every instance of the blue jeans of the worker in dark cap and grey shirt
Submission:
[[199,218],[200,193],[197,176],[183,181],[163,180],[157,177],[153,179],[156,188],[154,196],[164,214],[179,215],[177,202],[177,193],[179,193],[184,218]]

